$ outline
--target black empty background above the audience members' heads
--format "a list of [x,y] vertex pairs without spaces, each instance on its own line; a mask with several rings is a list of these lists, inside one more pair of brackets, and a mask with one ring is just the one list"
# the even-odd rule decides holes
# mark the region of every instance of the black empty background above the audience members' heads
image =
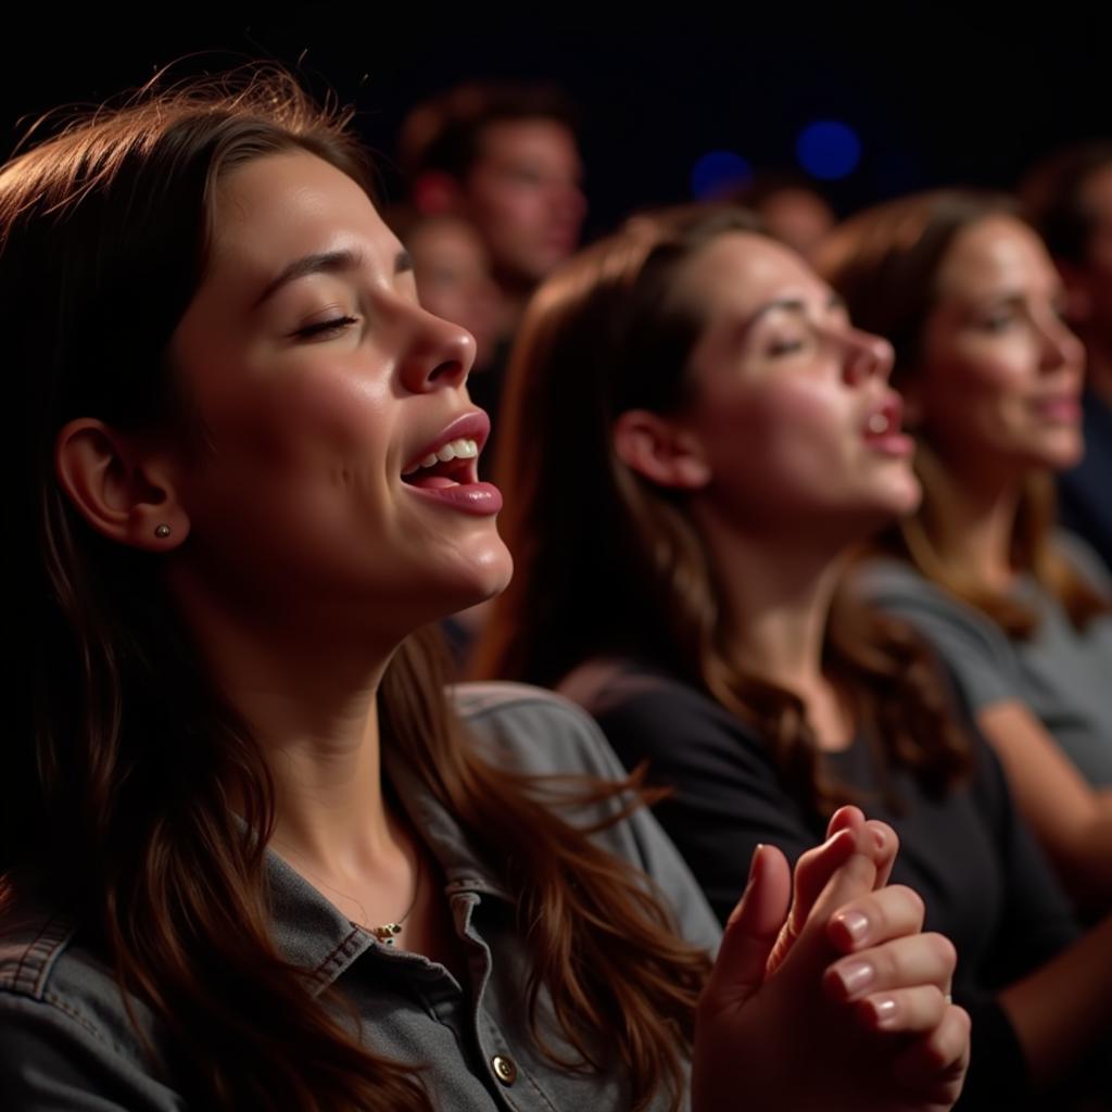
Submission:
[[588,234],[632,208],[688,198],[692,168],[711,150],[792,167],[795,137],[815,119],[843,120],[862,141],[857,169],[823,187],[843,214],[943,182],[1006,188],[1051,148],[1112,136],[1108,4],[684,4],[624,21],[604,19],[602,6],[589,20],[536,6],[529,18],[464,18],[460,7],[395,4],[384,16],[306,4],[261,18],[106,8],[80,21],[43,9],[3,37],[4,153],[60,103],[96,103],[176,60],[186,73],[249,58],[279,60],[354,102],[390,199],[395,137],[413,103],[470,77],[560,82],[583,110]]

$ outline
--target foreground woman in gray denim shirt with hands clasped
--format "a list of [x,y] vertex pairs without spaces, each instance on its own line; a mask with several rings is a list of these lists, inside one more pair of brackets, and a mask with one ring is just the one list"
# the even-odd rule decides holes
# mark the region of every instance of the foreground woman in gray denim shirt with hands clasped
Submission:
[[791,912],[757,854],[712,969],[582,716],[449,706],[424,629],[509,575],[474,341],[342,117],[275,75],[70,123],[0,169],[0,319],[6,1110],[953,1102],[952,954],[883,824],[835,816]]

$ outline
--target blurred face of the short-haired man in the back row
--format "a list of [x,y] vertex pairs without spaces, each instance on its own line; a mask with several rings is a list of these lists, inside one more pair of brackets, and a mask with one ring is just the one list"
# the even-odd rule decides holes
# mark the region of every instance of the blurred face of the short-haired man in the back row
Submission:
[[586,212],[582,177],[575,138],[555,120],[503,120],[483,129],[465,215],[500,280],[533,286],[576,249]]

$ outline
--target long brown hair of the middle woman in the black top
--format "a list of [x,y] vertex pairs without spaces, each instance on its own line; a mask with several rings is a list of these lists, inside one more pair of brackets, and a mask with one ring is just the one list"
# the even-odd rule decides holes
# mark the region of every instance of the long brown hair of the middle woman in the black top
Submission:
[[[678,409],[704,326],[681,268],[747,214],[686,208],[638,217],[535,295],[510,361],[496,476],[516,573],[479,644],[481,675],[556,684],[595,656],[633,657],[753,723],[804,805],[852,793],[824,774],[803,702],[733,662],[718,573],[685,497],[634,471],[613,428],[625,410]],[[832,609],[827,666],[882,739],[882,757],[937,788],[965,746],[927,651],[848,594]]]

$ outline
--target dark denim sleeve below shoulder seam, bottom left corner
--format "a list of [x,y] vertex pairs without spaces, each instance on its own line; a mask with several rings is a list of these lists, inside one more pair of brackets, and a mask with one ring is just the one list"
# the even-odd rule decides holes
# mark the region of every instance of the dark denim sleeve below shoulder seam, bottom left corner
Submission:
[[141,1073],[78,1016],[0,993],[4,1112],[182,1112],[180,1096]]

